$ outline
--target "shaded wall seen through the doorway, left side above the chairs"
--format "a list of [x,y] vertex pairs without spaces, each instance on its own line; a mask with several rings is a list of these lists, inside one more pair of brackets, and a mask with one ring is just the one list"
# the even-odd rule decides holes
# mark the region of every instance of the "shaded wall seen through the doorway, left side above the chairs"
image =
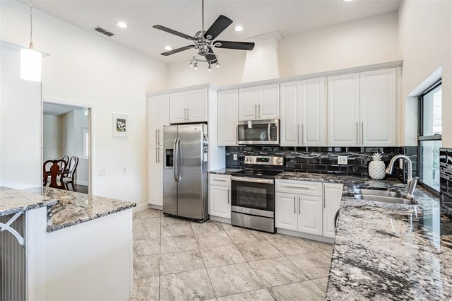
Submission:
[[42,160],[61,159],[63,155],[62,144],[62,117],[44,114],[42,116]]

